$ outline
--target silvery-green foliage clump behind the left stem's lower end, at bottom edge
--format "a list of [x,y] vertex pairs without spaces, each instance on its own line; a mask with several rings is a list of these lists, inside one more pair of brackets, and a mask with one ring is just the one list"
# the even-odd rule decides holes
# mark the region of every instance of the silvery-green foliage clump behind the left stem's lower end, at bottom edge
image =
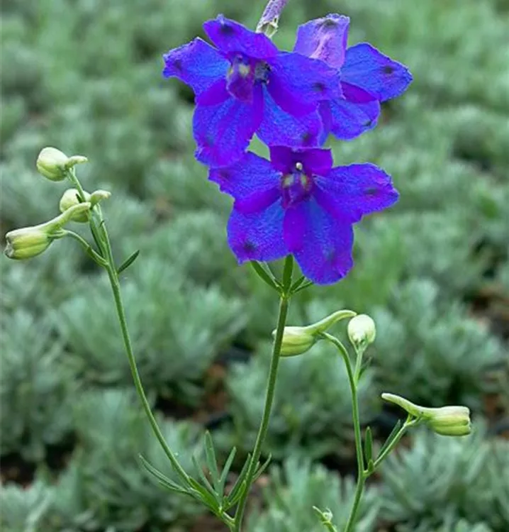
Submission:
[[[162,532],[167,530],[164,523],[183,525],[190,516],[203,511],[194,499],[174,497],[162,489],[142,467],[139,455],[176,480],[130,389],[84,394],[76,406],[75,418],[79,448],[72,467],[79,475],[83,506],[93,512],[102,528],[134,532],[151,523],[154,531]],[[184,469],[192,473],[191,457],[199,458],[201,450],[198,427],[187,422],[159,422],[169,447]],[[61,502],[55,513],[68,513],[69,507]]]

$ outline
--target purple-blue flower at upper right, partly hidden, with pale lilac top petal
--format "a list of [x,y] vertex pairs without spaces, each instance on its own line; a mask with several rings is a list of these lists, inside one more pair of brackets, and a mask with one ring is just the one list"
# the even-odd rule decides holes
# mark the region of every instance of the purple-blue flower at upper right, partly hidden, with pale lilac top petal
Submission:
[[349,18],[330,14],[298,27],[294,52],[323,60],[340,70],[342,98],[323,101],[320,116],[325,140],[332,133],[355,138],[376,126],[380,102],[400,96],[412,82],[405,65],[368,43],[347,48]]

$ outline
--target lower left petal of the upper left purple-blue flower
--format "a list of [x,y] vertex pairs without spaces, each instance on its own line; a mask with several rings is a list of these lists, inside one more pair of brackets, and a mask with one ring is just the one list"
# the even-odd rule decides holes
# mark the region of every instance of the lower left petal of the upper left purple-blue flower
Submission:
[[252,104],[232,96],[217,105],[197,105],[193,116],[196,159],[211,167],[228,166],[239,160],[263,116],[261,91]]

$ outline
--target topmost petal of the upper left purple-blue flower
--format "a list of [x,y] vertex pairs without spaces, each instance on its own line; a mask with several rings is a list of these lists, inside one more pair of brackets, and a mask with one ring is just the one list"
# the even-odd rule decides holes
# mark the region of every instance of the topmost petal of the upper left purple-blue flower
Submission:
[[206,21],[203,29],[208,38],[227,54],[242,53],[256,59],[274,57],[277,48],[272,40],[264,33],[255,33],[242,24],[219,15],[217,18]]

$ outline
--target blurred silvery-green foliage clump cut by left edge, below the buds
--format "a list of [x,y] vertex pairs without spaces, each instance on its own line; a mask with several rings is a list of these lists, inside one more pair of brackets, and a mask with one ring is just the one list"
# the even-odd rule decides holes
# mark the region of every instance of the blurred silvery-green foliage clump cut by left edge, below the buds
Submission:
[[74,376],[62,365],[62,342],[47,319],[26,311],[1,315],[0,455],[42,460],[46,446],[72,430]]

